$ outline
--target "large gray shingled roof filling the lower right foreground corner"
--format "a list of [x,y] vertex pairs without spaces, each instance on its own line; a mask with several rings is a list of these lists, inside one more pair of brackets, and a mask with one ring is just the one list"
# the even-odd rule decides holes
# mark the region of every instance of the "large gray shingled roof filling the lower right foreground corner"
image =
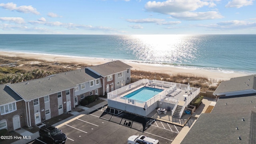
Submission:
[[219,98],[211,113],[199,116],[181,144],[255,144],[255,96]]

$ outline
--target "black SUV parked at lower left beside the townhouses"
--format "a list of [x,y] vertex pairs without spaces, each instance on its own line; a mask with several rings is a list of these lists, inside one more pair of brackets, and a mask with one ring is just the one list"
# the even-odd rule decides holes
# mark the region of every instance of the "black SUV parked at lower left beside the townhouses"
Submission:
[[39,135],[43,140],[54,144],[64,144],[67,140],[66,134],[62,133],[58,128],[48,124],[40,128]]

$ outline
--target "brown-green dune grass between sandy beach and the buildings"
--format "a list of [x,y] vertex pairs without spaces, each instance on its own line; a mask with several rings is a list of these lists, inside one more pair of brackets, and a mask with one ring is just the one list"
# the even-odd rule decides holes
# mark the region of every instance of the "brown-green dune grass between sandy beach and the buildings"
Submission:
[[[11,57],[11,56],[0,56],[0,64],[16,63],[15,67],[0,67],[0,82],[1,84],[7,82],[20,82],[16,80],[17,76],[24,76],[33,71],[41,71],[41,73],[48,72],[48,74],[56,74],[60,72],[66,72],[70,70],[76,70],[84,68],[87,66],[92,66],[91,64],[81,64],[78,62],[69,63],[69,62],[56,62],[56,61],[47,61],[39,60],[35,58],[22,58],[20,56]],[[47,74],[42,74],[41,77],[48,76]],[[167,82],[176,82],[181,84],[190,83],[191,87],[201,88],[202,92],[205,91],[214,91],[216,90],[217,84],[212,84],[207,77],[197,76],[194,74],[167,74],[164,72],[150,72],[143,70],[131,70],[131,77],[138,79],[156,79],[163,80]],[[19,77],[22,80],[22,77]],[[40,78],[40,76],[35,76],[33,78]],[[33,79],[30,78],[30,79]],[[30,80],[28,79],[28,80]],[[12,80],[12,81],[8,81]]]

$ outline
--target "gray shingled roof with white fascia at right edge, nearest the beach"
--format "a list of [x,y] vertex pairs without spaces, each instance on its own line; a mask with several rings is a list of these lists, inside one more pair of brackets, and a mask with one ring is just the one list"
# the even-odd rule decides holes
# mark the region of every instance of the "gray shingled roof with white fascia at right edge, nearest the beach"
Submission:
[[256,90],[256,75],[242,76],[223,81],[213,94],[219,95],[243,90]]

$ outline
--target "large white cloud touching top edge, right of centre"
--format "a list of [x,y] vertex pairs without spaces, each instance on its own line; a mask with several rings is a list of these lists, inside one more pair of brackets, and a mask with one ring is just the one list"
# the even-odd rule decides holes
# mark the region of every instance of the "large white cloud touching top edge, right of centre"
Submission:
[[166,0],[165,2],[149,1],[145,9],[160,14],[170,14],[176,12],[194,11],[203,6],[213,6],[212,3],[201,0]]

